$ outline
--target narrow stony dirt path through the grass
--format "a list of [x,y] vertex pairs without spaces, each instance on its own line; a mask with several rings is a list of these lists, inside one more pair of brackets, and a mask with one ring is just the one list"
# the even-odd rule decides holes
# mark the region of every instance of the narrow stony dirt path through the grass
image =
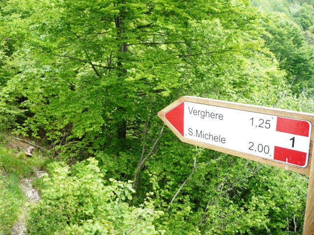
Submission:
[[[36,178],[42,177],[42,175],[45,173],[45,171],[37,170],[34,168],[35,176]],[[28,197],[28,202],[30,203],[37,203],[41,198],[38,193],[38,190],[32,187],[31,185],[32,180],[31,179],[24,179],[21,182],[21,188],[24,192],[24,194]],[[25,206],[23,208],[22,214],[20,215],[20,218],[18,222],[13,226],[12,229],[12,235],[25,235],[26,233],[26,226],[25,226],[25,215],[27,213],[27,207]]]

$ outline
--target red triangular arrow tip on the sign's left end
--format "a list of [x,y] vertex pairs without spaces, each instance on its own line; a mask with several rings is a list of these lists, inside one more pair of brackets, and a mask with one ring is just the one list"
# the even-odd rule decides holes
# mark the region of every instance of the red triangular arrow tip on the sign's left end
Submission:
[[165,114],[165,118],[184,136],[184,102],[169,110]]

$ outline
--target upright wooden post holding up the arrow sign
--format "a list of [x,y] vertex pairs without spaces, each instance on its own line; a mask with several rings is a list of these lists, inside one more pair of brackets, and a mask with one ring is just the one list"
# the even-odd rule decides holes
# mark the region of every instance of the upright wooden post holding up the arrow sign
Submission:
[[[314,163],[314,151],[312,151]],[[303,235],[314,235],[314,164],[311,164],[308,199],[306,201]]]

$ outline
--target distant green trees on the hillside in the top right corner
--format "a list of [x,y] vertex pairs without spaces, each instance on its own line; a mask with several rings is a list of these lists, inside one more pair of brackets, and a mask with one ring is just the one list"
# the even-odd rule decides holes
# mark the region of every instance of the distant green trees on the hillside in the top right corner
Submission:
[[308,3],[252,0],[254,6],[269,12],[264,24],[269,33],[264,36],[265,46],[275,54],[280,68],[287,72],[290,89],[296,94],[314,88],[314,8]]

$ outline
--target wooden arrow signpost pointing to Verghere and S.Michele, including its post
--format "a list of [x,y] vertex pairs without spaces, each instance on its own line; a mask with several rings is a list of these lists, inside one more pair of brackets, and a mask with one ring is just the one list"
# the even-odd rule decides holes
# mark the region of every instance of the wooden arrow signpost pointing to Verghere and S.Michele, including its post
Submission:
[[183,142],[309,175],[303,235],[314,235],[314,114],[183,96],[158,116]]

